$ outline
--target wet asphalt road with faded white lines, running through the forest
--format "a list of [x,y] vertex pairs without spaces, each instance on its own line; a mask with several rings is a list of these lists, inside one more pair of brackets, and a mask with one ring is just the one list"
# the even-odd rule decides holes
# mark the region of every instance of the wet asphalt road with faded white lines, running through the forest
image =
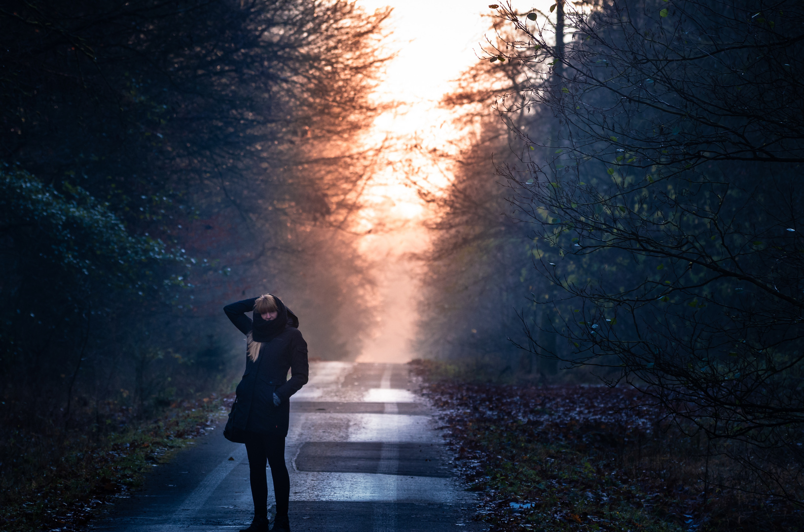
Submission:
[[[293,532],[486,530],[470,521],[474,498],[409,388],[400,364],[311,364],[310,383],[291,399],[285,446]],[[239,530],[251,518],[245,446],[218,427],[154,467],[92,530]]]

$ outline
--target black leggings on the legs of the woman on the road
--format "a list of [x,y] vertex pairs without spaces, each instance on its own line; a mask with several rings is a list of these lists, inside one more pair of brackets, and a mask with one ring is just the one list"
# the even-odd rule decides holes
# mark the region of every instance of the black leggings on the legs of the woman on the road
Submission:
[[248,433],[248,477],[252,485],[254,515],[268,515],[268,481],[265,478],[265,462],[271,468],[273,494],[277,498],[277,515],[288,514],[290,477],[285,466],[285,437],[276,434]]

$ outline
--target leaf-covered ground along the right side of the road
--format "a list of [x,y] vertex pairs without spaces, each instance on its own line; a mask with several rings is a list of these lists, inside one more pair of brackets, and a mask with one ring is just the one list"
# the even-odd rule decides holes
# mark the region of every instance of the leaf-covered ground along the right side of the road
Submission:
[[466,382],[412,365],[492,530],[799,530],[790,502],[721,489],[728,462],[707,467],[706,446],[634,389]]

